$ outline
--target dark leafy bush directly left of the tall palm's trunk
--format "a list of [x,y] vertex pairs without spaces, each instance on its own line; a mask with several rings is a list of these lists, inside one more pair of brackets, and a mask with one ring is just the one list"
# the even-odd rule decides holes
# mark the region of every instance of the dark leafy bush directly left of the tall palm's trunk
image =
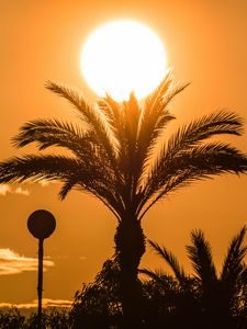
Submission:
[[76,293],[71,309],[75,328],[121,327],[120,273],[117,261],[106,260],[94,282],[83,284],[82,290]]

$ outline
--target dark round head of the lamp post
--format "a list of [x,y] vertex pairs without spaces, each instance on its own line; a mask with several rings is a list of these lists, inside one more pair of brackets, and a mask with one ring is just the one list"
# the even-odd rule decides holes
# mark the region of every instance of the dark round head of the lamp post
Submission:
[[27,219],[27,228],[36,239],[46,239],[54,232],[56,219],[47,211],[35,211]]

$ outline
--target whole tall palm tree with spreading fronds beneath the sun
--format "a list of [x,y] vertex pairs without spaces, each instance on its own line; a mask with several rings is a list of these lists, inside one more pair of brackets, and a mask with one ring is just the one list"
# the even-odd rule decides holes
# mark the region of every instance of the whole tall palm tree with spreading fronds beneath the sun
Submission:
[[137,268],[145,252],[142,218],[158,200],[194,180],[245,172],[247,158],[236,148],[202,143],[214,135],[240,135],[242,118],[223,111],[194,120],[167,138],[157,155],[160,137],[175,118],[168,105],[186,88],[172,87],[170,76],[143,103],[132,93],[128,101],[119,103],[108,94],[90,105],[74,89],[54,82],[46,87],[74,106],[78,124],[35,120],[21,127],[13,144],[36,143],[40,150],[58,146],[71,156],[11,158],[0,163],[0,183],[58,180],[64,183],[61,200],[71,189],[101,200],[117,219],[114,240],[123,311],[132,315],[137,305]]

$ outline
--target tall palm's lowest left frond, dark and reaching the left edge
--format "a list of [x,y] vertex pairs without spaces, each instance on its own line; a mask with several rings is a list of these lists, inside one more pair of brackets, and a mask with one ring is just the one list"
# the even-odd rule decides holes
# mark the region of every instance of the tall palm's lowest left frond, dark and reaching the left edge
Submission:
[[49,155],[14,157],[0,164],[0,183],[41,180],[64,182],[59,193],[61,198],[71,189],[78,188],[100,198],[116,218],[123,212],[117,188],[101,166],[92,168],[75,158]]

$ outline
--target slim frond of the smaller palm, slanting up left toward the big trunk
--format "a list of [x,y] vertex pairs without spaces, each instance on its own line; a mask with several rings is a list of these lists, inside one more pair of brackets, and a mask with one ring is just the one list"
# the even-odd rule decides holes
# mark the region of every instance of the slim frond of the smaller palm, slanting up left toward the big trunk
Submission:
[[148,243],[151,246],[155,252],[158,256],[160,256],[165,260],[165,262],[171,268],[177,280],[181,284],[184,284],[186,274],[182,266],[179,264],[177,257],[171,251],[168,251],[165,247],[160,247],[155,241],[148,240]]

